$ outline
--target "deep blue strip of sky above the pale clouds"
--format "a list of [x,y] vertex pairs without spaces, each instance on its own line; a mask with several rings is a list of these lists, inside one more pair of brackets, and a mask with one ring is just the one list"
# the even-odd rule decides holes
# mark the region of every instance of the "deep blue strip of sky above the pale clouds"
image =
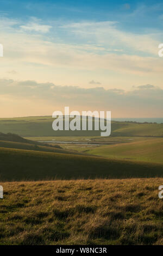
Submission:
[[[30,16],[38,19],[63,19],[68,21],[118,21],[128,31],[142,28],[162,27],[162,1],[108,1],[108,0],[48,0],[48,1],[0,1],[1,13],[13,18],[27,20]],[[141,28],[140,28],[141,25]]]

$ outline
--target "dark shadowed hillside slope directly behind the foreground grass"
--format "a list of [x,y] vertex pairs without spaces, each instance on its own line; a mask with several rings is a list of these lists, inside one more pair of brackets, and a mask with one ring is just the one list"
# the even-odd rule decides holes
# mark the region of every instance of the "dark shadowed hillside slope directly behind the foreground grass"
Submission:
[[162,177],[163,164],[0,148],[0,180]]

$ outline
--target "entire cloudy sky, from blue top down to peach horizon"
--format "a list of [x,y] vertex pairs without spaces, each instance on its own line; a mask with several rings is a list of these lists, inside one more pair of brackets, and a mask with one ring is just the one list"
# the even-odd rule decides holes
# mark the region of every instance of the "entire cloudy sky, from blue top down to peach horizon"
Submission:
[[1,1],[0,118],[163,116],[162,1]]

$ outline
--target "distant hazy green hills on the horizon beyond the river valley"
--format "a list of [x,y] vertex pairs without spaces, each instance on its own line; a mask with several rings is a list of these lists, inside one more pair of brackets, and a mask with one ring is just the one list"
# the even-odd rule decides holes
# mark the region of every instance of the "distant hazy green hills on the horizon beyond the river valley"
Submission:
[[[53,131],[52,117],[1,118],[0,132],[16,133],[23,137],[43,136],[100,136],[99,131]],[[111,122],[114,136],[163,136],[163,124]]]

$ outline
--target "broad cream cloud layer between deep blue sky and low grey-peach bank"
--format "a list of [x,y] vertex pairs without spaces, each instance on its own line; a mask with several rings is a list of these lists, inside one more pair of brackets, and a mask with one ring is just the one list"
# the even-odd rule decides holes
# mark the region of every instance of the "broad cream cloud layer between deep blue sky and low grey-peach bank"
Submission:
[[[147,83],[162,87],[163,62],[158,57],[155,32],[126,32],[117,21],[1,21],[1,77],[7,77],[8,70],[16,70],[18,75],[10,72],[8,77],[85,87],[98,77],[105,88],[112,84],[128,89],[130,84]],[[21,28],[30,27],[30,23],[52,28],[46,33]]]

